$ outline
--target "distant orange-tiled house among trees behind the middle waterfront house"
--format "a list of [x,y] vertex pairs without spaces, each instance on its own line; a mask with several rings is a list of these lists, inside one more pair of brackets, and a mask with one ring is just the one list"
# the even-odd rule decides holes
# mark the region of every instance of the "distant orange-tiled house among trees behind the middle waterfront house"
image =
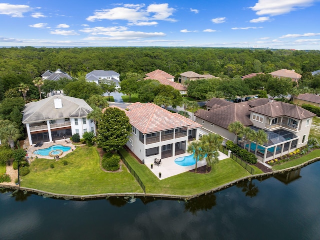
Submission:
[[160,84],[163,85],[169,85],[173,87],[174,89],[178,90],[180,94],[187,94],[186,87],[174,82],[174,76],[162,71],[162,70],[154,70],[150,73],[145,74],[147,77],[144,78],[144,80],[147,79],[154,79],[159,81]]

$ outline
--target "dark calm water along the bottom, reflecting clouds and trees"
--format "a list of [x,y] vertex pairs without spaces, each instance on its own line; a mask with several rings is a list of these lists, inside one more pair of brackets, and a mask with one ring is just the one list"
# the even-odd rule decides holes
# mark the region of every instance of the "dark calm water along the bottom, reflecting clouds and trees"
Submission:
[[4,192],[0,239],[320,239],[319,184],[315,162],[187,202]]

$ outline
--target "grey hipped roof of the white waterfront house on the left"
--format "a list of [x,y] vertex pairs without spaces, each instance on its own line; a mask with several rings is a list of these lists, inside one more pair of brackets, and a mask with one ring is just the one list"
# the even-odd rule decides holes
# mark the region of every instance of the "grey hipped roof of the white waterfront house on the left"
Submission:
[[[61,99],[62,108],[54,107],[54,99]],[[22,123],[32,123],[69,117],[86,117],[92,108],[79,98],[55,95],[24,105]]]

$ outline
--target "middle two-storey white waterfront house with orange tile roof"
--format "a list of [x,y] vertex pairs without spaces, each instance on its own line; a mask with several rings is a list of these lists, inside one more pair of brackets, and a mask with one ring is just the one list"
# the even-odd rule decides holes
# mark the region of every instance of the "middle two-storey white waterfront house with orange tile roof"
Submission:
[[126,146],[144,163],[186,152],[188,141],[198,140],[200,124],[153,103],[133,103],[125,114],[132,134]]

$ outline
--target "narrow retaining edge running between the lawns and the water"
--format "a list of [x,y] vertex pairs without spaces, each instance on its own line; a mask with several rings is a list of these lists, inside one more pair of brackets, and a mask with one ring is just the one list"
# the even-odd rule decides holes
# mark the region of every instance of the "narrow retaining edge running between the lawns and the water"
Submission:
[[299,168],[305,167],[305,166],[307,166],[307,165],[309,165],[309,164],[311,164],[313,162],[316,162],[318,160],[320,160],[320,157],[316,157],[316,158],[310,159],[310,160],[308,160],[308,161],[306,161],[304,163],[301,163],[301,164],[293,166],[293,167],[242,177],[242,178],[233,180],[231,182],[228,182],[226,184],[223,184],[221,186],[209,189],[209,190],[204,191],[204,192],[193,194],[193,195],[173,195],[173,194],[140,193],[140,192],[100,193],[100,194],[92,194],[92,195],[70,195],[70,194],[52,193],[52,192],[42,191],[42,190],[38,190],[38,189],[33,189],[33,188],[28,188],[28,187],[20,187],[20,186],[17,186],[17,185],[3,184],[3,183],[0,184],[0,187],[1,188],[12,189],[12,190],[22,190],[22,191],[27,191],[27,192],[30,192],[30,193],[37,193],[38,195],[43,196],[43,197],[64,199],[64,200],[94,200],[94,199],[101,199],[101,198],[108,198],[108,197],[119,197],[119,196],[157,197],[157,198],[164,198],[164,199],[190,200],[192,198],[195,198],[195,197],[198,197],[198,196],[201,196],[201,195],[206,195],[206,194],[209,194],[209,193],[218,192],[218,191],[220,191],[222,189],[225,189],[225,188],[228,188],[230,186],[233,186],[234,184],[236,184],[236,183],[238,183],[240,181],[244,181],[246,179],[259,178],[259,177],[276,175],[276,174],[281,174],[281,173],[297,170]]

